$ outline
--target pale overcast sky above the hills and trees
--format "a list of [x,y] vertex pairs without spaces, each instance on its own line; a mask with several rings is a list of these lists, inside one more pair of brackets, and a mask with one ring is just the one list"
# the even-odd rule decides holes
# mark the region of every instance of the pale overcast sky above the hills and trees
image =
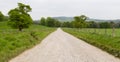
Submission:
[[40,17],[86,15],[95,19],[120,19],[120,0],[0,0],[0,11],[7,15],[21,2],[30,5],[34,20]]

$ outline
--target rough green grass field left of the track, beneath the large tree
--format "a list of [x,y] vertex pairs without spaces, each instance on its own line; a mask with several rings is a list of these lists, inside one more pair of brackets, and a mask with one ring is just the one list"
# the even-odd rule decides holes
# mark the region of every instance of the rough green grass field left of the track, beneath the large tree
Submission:
[[32,25],[23,32],[7,26],[7,22],[0,22],[0,62],[8,62],[26,49],[40,43],[55,28]]

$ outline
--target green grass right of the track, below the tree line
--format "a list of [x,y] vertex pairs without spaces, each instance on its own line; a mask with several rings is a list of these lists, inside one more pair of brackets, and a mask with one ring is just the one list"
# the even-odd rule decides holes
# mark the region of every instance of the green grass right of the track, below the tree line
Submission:
[[89,29],[90,32],[87,31],[88,29],[64,28],[63,30],[120,58],[120,29],[115,29],[115,37],[111,36],[111,29],[107,29],[107,34],[104,34],[104,29],[97,29],[97,33],[93,33],[94,29]]

